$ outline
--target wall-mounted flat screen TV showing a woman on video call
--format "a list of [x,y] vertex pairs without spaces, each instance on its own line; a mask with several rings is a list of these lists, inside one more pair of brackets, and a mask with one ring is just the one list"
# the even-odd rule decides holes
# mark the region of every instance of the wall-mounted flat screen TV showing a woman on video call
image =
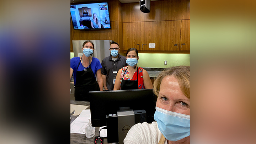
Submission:
[[70,4],[70,14],[75,30],[111,28],[108,11],[108,2]]

